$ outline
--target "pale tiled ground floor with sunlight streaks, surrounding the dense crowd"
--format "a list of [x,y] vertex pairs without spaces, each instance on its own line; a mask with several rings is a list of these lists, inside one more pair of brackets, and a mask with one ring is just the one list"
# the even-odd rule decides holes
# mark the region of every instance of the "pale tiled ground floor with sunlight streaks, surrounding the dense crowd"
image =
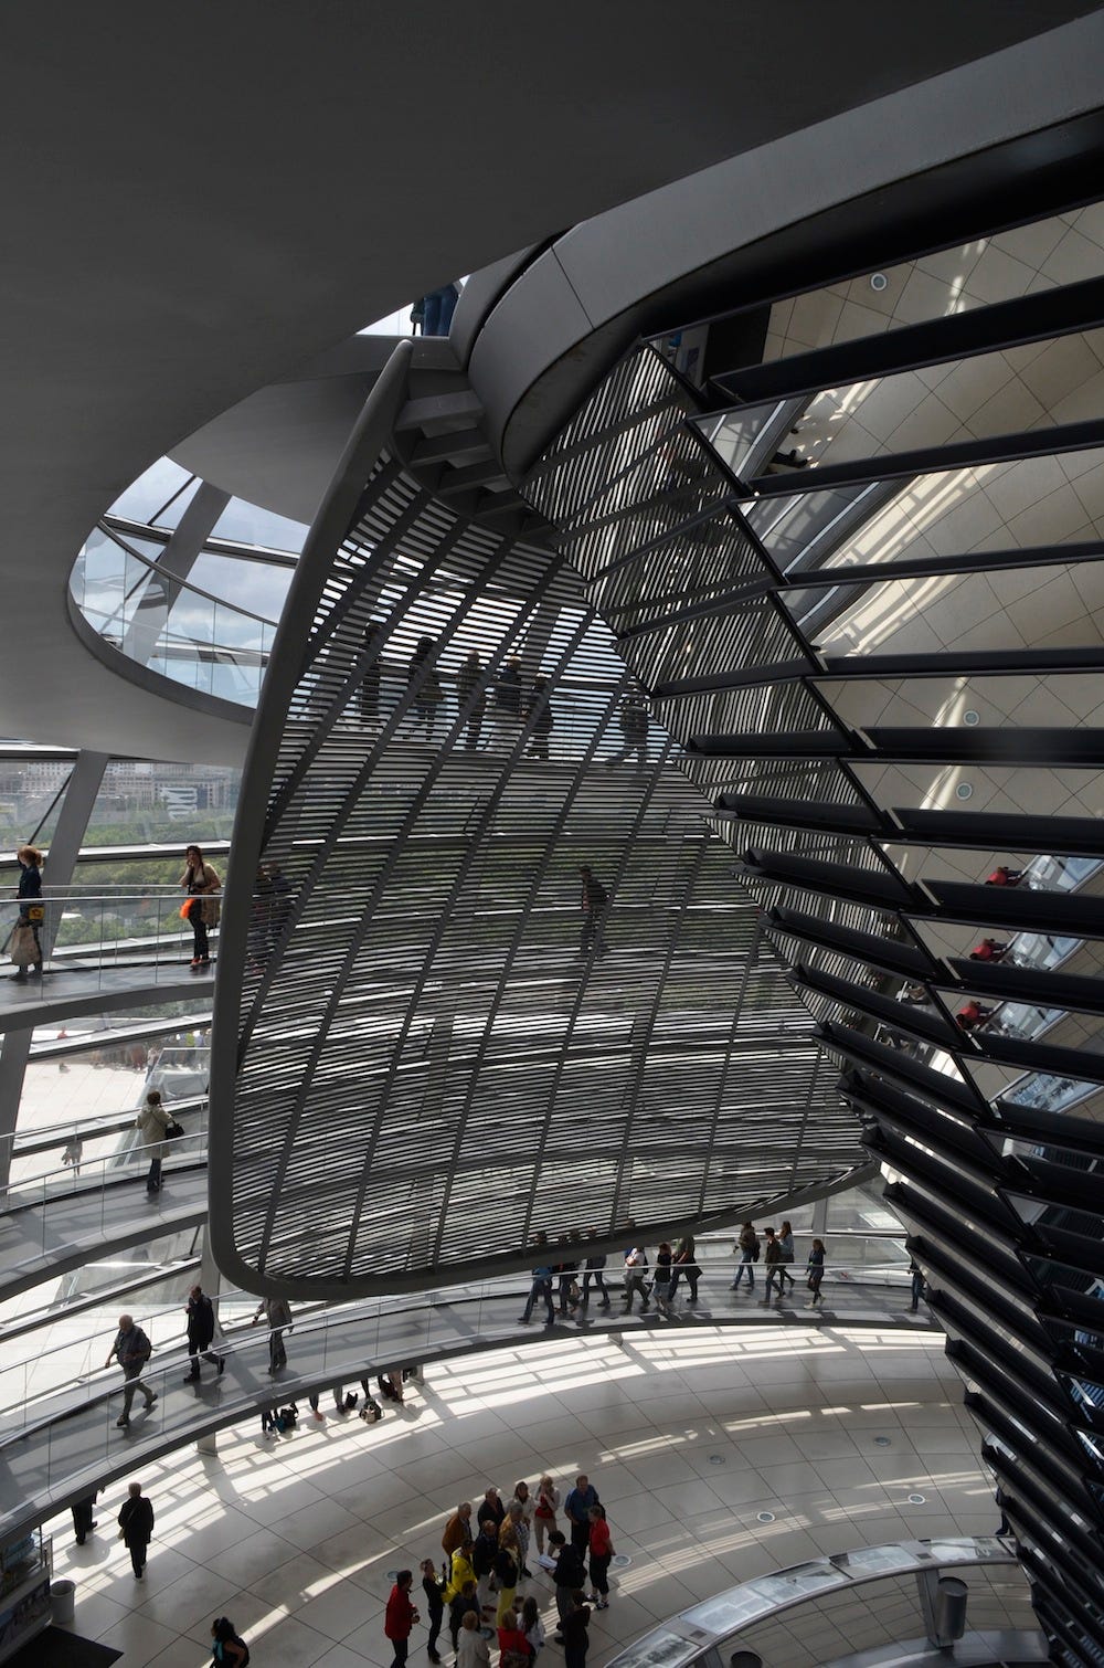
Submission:
[[[275,1444],[235,1429],[217,1456],[142,1473],[157,1510],[145,1583],[113,1535],[120,1488],[83,1548],[68,1515],[53,1520],[55,1575],[77,1581],[75,1631],[123,1650],[125,1668],[200,1668],[218,1613],[258,1668],[387,1668],[389,1571],[440,1556],[457,1500],[544,1470],[589,1471],[632,1558],[592,1620],[590,1668],[735,1581],[856,1545],[989,1533],[996,1516],[942,1338],[695,1328],[439,1364],[377,1426],[307,1418]],[[534,1586],[547,1610],[547,1578]],[[424,1641],[415,1630],[412,1668]]]

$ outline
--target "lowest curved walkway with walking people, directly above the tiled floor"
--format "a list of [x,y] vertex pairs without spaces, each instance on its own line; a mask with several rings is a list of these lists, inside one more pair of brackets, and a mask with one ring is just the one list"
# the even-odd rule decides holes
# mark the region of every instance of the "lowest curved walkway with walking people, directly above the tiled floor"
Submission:
[[[800,1326],[815,1333],[836,1326],[876,1326],[936,1333],[927,1314],[894,1313],[887,1293],[856,1288],[846,1288],[839,1298],[832,1291],[827,1298],[832,1306],[820,1311],[794,1309],[785,1303],[767,1306],[757,1296],[724,1291],[709,1303],[702,1296],[700,1308],[682,1311],[667,1323],[659,1321],[654,1311],[624,1318],[617,1301],[610,1311],[594,1306],[580,1323],[524,1328],[517,1318],[522,1303],[519,1286],[504,1283],[474,1296],[464,1288],[440,1293],[419,1306],[397,1299],[322,1311],[290,1329],[285,1341],[289,1366],[275,1386],[268,1374],[263,1331],[232,1333],[218,1346],[225,1354],[225,1371],[217,1374],[203,1366],[198,1384],[182,1383],[187,1369],[182,1346],[163,1356],[157,1351],[155,1369],[145,1374],[157,1404],[143,1413],[138,1393],[132,1424],[125,1431],[115,1424],[122,1409],[117,1371],[97,1374],[95,1384],[43,1398],[37,1406],[0,1418],[0,1500],[5,1503],[0,1540],[13,1540],[92,1488],[133,1473],[137,1461],[172,1453],[277,1401],[304,1403],[312,1389],[339,1381],[355,1383],[397,1364],[445,1361],[549,1336],[620,1336],[652,1328],[682,1333],[715,1326],[752,1326],[757,1331],[764,1326]],[[103,1341],[103,1353],[108,1348],[110,1338]],[[28,1414],[33,1423],[25,1423]]]

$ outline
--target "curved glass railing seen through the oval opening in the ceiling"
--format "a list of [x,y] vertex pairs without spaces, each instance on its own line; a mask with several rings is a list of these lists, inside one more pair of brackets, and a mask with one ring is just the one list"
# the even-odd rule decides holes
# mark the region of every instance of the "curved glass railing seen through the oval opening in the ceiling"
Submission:
[[[145,544],[147,549],[140,549]],[[70,574],[73,602],[105,644],[203,694],[257,706],[275,620],[167,572],[165,547],[100,524]]]

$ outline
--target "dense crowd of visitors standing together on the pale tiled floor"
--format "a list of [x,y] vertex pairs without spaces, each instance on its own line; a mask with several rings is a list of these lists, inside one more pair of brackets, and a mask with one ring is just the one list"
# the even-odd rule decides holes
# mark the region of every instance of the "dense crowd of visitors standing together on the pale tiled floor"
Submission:
[[[559,1526],[560,1510],[567,1533]],[[550,1476],[535,1488],[515,1483],[504,1501],[487,1488],[477,1508],[462,1500],[440,1538],[440,1573],[432,1558],[420,1565],[429,1626],[427,1656],[440,1661],[439,1641],[447,1626],[457,1668],[489,1668],[490,1638],[497,1631],[499,1668],[527,1668],[545,1643],[545,1626],[534,1593],[519,1598],[519,1586],[534,1580],[534,1563],[545,1570],[555,1590],[557,1630],[567,1668],[584,1668],[590,1605],[609,1608],[609,1566],[614,1558],[610,1526],[597,1488],[585,1473],[560,1500]],[[587,1593],[587,1580],[590,1591]],[[414,1573],[400,1570],[384,1630],[394,1650],[392,1668],[404,1668],[414,1626],[420,1621],[410,1591]]]

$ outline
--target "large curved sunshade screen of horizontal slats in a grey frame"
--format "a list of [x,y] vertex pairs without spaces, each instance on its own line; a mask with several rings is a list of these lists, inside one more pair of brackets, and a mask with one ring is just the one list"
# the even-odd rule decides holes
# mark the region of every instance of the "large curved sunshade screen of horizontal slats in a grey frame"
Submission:
[[[729,1221],[861,1161],[577,575],[410,475],[404,395],[397,360],[304,552],[223,919],[212,1234],[232,1278],[289,1294]],[[587,946],[584,864],[609,894]]]

